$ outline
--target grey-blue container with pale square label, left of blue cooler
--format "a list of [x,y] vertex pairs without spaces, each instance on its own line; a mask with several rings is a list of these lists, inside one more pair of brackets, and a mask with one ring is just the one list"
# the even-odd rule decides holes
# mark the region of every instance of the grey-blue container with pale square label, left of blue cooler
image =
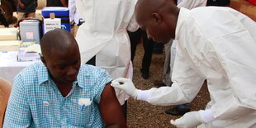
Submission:
[[20,22],[20,36],[23,42],[40,44],[40,21],[25,20]]

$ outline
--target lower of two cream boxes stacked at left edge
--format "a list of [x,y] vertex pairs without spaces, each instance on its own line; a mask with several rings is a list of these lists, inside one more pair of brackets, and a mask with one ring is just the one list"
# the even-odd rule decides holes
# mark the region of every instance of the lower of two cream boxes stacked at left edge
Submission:
[[0,40],[0,51],[18,51],[21,44],[21,40]]

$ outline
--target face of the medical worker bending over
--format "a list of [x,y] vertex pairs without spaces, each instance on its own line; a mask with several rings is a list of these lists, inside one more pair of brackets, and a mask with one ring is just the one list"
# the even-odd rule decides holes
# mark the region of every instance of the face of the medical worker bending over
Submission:
[[157,21],[154,17],[145,18],[136,17],[136,20],[142,30],[147,32],[148,38],[156,42],[166,44],[171,40],[170,31],[164,21]]

